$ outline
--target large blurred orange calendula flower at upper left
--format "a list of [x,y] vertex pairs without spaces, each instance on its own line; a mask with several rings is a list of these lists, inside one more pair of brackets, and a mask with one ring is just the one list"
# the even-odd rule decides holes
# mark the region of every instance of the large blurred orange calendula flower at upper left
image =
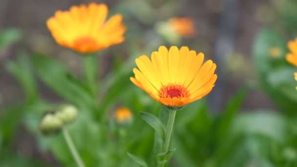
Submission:
[[106,4],[83,4],[56,11],[46,24],[58,44],[83,54],[92,53],[124,41],[122,15],[106,21],[107,13]]

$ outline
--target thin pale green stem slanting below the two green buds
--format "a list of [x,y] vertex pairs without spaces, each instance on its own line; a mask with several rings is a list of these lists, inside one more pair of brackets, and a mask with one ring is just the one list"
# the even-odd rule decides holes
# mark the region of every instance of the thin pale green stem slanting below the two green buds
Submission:
[[77,149],[75,148],[72,140],[71,140],[71,137],[68,133],[68,130],[66,129],[66,127],[63,127],[62,128],[62,131],[63,131],[63,136],[64,136],[64,139],[65,139],[65,142],[67,143],[67,146],[77,164],[78,167],[85,167],[83,161],[82,161],[82,158],[80,157],[80,155],[78,154],[78,151]]

